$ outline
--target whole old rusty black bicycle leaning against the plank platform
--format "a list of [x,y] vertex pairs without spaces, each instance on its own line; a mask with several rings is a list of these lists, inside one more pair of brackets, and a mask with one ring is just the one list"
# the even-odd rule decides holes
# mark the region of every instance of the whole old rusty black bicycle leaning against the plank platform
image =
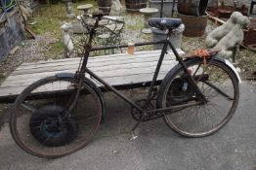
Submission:
[[[234,66],[218,57],[217,50],[197,51],[181,57],[169,41],[172,30],[182,23],[180,19],[150,19],[150,26],[167,31],[166,39],[135,44],[162,44],[163,47],[147,98],[133,101],[87,68],[90,51],[128,47],[92,47],[100,20],[122,21],[102,13],[86,17],[94,18],[95,22],[83,44],[76,73],[59,73],[41,79],[27,86],[15,102],[10,119],[11,133],[25,152],[60,157],[85,147],[106,115],[105,99],[99,85],[132,106],[131,114],[138,120],[132,134],[141,122],[163,118],[171,129],[183,136],[203,137],[218,131],[233,117],[239,99],[239,76]],[[168,47],[174,52],[178,64],[170,68],[160,85],[156,85]]]

